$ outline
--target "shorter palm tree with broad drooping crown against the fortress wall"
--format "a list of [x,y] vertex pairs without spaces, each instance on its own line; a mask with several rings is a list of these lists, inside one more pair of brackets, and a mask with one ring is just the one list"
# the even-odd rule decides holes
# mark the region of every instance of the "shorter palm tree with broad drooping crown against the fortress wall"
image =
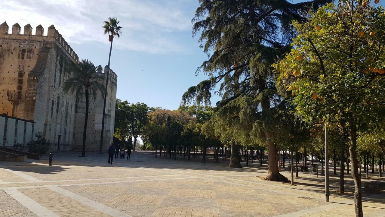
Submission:
[[105,97],[105,88],[97,81],[97,68],[88,59],[82,59],[77,65],[71,68],[73,75],[64,81],[63,91],[65,93],[71,92],[80,93],[82,90],[85,92],[85,119],[83,130],[83,147],[82,157],[85,156],[85,137],[87,134],[87,122],[88,122],[88,110],[89,110],[89,92],[92,93],[94,100],[96,98],[97,90],[102,93],[102,97]]

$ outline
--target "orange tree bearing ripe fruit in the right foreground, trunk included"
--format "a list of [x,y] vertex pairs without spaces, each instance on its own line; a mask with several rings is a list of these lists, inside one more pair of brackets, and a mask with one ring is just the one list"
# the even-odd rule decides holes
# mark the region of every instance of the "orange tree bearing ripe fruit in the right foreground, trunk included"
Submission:
[[[375,1],[378,3],[378,0]],[[347,127],[355,182],[355,212],[362,216],[357,131],[384,123],[385,14],[368,1],[346,0],[294,21],[293,49],[274,67],[306,122],[325,117],[326,127]]]

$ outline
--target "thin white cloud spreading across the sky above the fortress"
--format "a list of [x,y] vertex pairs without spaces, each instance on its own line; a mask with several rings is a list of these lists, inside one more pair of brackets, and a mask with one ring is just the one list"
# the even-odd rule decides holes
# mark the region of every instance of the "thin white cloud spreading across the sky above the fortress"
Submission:
[[0,23],[29,23],[33,28],[42,24],[45,34],[54,24],[69,43],[108,43],[101,26],[114,16],[123,27],[115,48],[174,53],[183,51],[183,47],[170,36],[191,29],[191,15],[184,13],[183,4],[181,0],[0,0]]

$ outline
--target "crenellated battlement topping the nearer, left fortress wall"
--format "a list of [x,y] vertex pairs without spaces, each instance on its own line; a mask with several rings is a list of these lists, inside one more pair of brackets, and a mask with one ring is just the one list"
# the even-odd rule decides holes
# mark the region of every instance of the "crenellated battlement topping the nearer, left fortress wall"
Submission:
[[[35,28],[35,35],[34,36],[44,36],[44,27],[42,25],[38,25]],[[10,35],[26,35],[26,36],[33,36],[32,35],[32,26],[30,24],[27,24],[24,26],[24,31],[21,33],[21,27],[18,23],[15,23],[12,25],[12,33]],[[9,26],[7,22],[3,22],[0,25],[0,34],[9,34]],[[71,56],[76,63],[79,62],[79,57],[74,52],[74,50],[69,46],[69,44],[64,40],[61,34],[59,34],[59,31],[55,29],[54,25],[50,25],[48,27],[47,36],[44,37],[54,37],[60,46],[64,48],[64,50]]]

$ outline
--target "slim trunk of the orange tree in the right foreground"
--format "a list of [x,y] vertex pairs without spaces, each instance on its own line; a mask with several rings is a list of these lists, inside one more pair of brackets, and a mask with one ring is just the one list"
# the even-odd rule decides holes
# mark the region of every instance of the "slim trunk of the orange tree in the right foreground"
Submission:
[[361,177],[358,175],[357,161],[357,129],[355,124],[350,124],[350,161],[352,162],[352,177],[354,180],[354,205],[356,217],[363,217]]

